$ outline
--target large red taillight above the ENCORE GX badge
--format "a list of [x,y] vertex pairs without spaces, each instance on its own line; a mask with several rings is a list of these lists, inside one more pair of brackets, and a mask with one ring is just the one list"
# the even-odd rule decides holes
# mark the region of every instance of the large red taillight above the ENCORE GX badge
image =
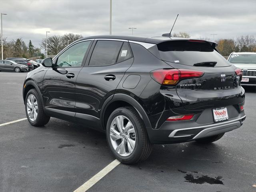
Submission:
[[198,78],[203,75],[203,71],[190,69],[158,69],[151,72],[151,77],[162,85],[175,85],[180,80]]

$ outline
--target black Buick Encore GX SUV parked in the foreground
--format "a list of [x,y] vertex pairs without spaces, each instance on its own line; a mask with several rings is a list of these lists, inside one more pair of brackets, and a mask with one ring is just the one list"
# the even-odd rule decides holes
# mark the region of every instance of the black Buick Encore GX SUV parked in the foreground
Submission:
[[153,144],[214,142],[239,128],[242,71],[216,43],[184,38],[92,36],[28,73],[23,98],[30,124],[50,117],[106,132],[123,163],[145,160]]

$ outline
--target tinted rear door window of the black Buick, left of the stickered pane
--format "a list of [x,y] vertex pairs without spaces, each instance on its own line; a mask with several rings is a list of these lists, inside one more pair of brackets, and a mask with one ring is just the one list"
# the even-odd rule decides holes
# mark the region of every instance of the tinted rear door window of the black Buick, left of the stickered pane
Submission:
[[115,64],[122,43],[122,41],[98,40],[92,52],[89,66]]

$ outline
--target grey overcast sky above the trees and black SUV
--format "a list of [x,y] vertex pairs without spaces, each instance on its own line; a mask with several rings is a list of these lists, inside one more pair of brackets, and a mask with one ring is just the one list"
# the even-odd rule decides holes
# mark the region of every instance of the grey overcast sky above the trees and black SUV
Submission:
[[[51,35],[109,34],[110,0],[0,0],[3,35],[39,46]],[[192,38],[256,35],[256,0],[113,0],[112,34],[160,36],[185,31]]]

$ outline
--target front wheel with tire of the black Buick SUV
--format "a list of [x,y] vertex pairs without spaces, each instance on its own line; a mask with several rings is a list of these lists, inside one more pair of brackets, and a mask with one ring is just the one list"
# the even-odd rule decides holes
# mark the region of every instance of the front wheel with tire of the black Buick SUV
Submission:
[[[30,102],[28,102],[28,99],[30,100]],[[32,100],[34,103],[32,102]],[[33,126],[44,126],[50,120],[50,116],[44,113],[42,102],[39,98],[38,92],[35,89],[29,90],[26,95],[25,110],[26,110],[26,116],[28,118],[28,121]],[[33,114],[32,114],[32,111],[34,112]],[[37,115],[34,115],[36,114],[36,112],[37,112]]]

